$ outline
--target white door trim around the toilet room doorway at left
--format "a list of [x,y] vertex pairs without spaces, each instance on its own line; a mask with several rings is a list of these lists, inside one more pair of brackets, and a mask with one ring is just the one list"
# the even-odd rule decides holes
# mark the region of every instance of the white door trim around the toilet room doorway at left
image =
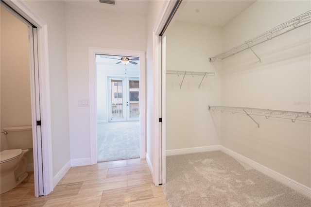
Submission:
[[[38,40],[38,67],[40,85],[40,111],[41,111],[41,135],[42,135],[42,165],[43,165],[43,195],[48,195],[53,190],[53,166],[52,166],[52,131],[51,131],[51,105],[50,105],[50,77],[49,77],[49,53],[48,53],[48,28],[23,1],[6,0],[5,3],[15,10],[20,16],[37,27]],[[34,86],[34,82],[31,85]],[[34,97],[32,97],[34,102]],[[34,102],[35,103],[35,102]],[[33,104],[34,105],[34,104]],[[32,106],[33,107],[33,106]],[[35,108],[32,108],[34,111]],[[36,126],[33,126],[36,130]],[[41,150],[41,149],[37,149]],[[34,153],[34,162],[38,157]],[[35,178],[38,172],[35,171]],[[35,196],[39,195],[38,182],[35,179]]]

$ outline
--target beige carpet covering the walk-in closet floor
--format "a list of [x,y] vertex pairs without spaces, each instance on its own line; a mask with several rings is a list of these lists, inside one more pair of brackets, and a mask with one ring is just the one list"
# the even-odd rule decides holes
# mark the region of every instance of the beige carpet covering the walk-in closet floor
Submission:
[[166,157],[170,207],[311,207],[311,199],[221,151]]

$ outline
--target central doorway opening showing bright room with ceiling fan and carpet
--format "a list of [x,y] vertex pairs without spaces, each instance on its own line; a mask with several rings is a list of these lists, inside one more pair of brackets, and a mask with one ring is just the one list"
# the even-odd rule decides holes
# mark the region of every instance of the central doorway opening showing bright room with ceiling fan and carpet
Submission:
[[97,162],[140,157],[140,61],[96,54]]

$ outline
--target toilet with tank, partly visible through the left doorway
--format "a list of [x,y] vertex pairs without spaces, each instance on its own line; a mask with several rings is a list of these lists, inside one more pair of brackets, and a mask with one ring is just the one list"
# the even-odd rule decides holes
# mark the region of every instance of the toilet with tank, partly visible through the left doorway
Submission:
[[0,152],[0,193],[14,189],[28,176],[26,154],[33,149],[32,126],[3,128],[8,150]]

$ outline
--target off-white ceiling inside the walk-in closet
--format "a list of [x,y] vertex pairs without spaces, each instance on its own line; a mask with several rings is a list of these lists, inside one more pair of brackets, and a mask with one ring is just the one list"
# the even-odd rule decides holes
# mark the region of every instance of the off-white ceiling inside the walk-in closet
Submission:
[[223,27],[256,0],[188,0],[177,20]]

